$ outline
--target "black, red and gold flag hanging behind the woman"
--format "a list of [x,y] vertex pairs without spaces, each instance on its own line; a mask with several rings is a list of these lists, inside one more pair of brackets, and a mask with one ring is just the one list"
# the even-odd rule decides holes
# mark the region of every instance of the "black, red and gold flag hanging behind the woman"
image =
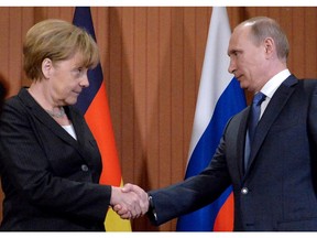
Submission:
[[[76,7],[73,23],[85,29],[96,40],[89,7]],[[85,115],[101,153],[102,173],[99,183],[122,186],[120,162],[100,64],[88,72],[88,79],[89,87],[81,91],[76,106]],[[108,210],[105,226],[107,231],[131,231],[130,221],[121,219],[112,209]]]

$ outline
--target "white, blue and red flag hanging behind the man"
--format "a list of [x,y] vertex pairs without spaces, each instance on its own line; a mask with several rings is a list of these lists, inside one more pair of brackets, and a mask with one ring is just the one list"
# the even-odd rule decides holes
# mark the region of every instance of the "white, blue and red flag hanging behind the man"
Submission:
[[[185,178],[201,172],[212,159],[230,117],[245,106],[244,91],[228,73],[227,48],[231,35],[227,9],[214,7],[194,118]],[[231,186],[212,204],[182,216],[178,231],[230,231],[233,229]]]

